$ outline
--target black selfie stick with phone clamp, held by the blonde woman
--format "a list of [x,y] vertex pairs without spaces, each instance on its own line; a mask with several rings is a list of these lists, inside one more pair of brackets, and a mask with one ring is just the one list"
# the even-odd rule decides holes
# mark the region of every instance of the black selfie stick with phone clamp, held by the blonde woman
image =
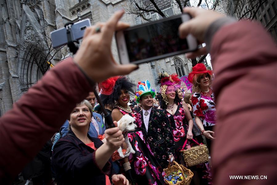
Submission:
[[[74,42],[76,43],[79,43],[77,40],[72,40],[72,36],[71,36],[71,25],[74,24],[72,22],[69,22],[69,23],[66,23],[64,25],[64,27],[66,28],[66,34],[67,34],[67,46],[69,48],[69,50],[75,54],[77,52],[77,50],[79,49],[75,44]],[[110,113],[108,113],[104,107],[104,104],[103,102],[101,101],[100,97],[98,96],[98,93],[94,87],[93,89],[93,92],[96,96],[96,99],[98,101],[98,103],[100,104],[100,107],[102,109],[102,111],[104,112],[104,118],[105,118],[105,121],[107,121],[108,125],[109,125],[109,128],[113,128],[115,127],[115,125],[113,124],[113,121],[112,121],[112,116]]]

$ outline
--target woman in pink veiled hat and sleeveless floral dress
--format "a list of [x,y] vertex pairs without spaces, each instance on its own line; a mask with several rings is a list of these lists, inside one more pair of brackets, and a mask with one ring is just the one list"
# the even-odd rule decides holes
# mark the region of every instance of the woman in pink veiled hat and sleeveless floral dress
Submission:
[[[188,106],[181,102],[177,94],[176,90],[180,88],[180,79],[177,74],[160,73],[159,82],[161,84],[160,108],[164,109],[169,117],[175,147],[175,161],[181,163],[180,150],[186,139],[193,139],[193,120]],[[190,142],[187,143],[190,144]]]

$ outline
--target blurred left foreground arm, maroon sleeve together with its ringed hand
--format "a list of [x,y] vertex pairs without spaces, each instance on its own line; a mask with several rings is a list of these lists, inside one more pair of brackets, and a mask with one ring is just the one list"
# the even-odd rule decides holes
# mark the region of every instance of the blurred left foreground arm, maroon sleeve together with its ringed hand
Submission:
[[100,33],[95,32],[95,26],[88,28],[75,62],[69,58],[56,65],[0,118],[0,184],[13,180],[60,128],[76,103],[92,91],[88,78],[99,82],[137,68],[116,64],[108,49],[113,32],[128,27],[118,22],[123,13],[118,11],[100,24]]

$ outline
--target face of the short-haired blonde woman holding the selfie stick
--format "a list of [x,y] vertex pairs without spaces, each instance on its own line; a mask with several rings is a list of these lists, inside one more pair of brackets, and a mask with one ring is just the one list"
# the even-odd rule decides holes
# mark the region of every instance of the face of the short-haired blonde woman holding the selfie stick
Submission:
[[71,124],[71,127],[75,129],[88,127],[91,122],[91,116],[91,112],[84,104],[73,109],[73,111],[70,113],[69,123]]

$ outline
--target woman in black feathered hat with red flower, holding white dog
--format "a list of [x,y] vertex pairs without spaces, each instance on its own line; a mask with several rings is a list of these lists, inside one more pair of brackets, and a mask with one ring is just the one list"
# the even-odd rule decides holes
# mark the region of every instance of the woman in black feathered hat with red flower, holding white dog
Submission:
[[[104,95],[109,95],[107,104],[112,105],[112,119],[118,121],[125,114],[135,118],[137,129],[128,132],[128,138],[135,150],[129,157],[123,159],[123,167],[127,174],[131,174],[135,184],[165,184],[162,168],[157,162],[142,130],[141,114],[129,105],[129,92],[134,93],[132,84],[125,77],[113,77],[101,82],[99,89]],[[127,134],[127,133],[126,133]],[[131,179],[131,178],[130,178]]]

